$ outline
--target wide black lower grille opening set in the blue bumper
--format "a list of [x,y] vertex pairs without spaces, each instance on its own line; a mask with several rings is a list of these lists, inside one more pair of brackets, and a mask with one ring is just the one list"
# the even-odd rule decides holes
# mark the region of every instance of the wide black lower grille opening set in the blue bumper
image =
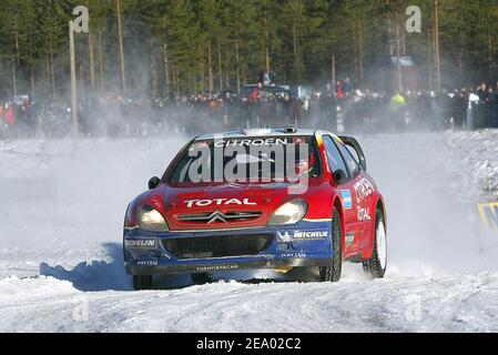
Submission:
[[268,234],[243,234],[163,240],[163,246],[176,258],[209,258],[256,255],[270,247]]

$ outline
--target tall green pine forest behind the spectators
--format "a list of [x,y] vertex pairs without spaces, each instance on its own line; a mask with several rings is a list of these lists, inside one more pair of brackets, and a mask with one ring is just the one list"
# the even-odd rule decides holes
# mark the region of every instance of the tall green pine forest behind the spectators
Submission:
[[[433,90],[438,53],[443,87],[498,73],[498,0],[2,0],[0,98],[65,98],[77,6],[90,12],[90,32],[75,34],[83,94],[237,92],[261,71],[382,89],[380,68],[398,54]],[[420,33],[405,30],[408,6],[421,10]]]

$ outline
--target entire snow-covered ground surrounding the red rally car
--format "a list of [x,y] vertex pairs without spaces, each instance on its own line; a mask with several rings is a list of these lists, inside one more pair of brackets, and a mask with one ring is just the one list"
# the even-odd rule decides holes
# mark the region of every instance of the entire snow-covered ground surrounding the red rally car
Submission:
[[498,132],[363,136],[385,194],[386,280],[223,273],[132,292],[121,256],[126,203],[184,138],[0,142],[0,332],[498,331]]

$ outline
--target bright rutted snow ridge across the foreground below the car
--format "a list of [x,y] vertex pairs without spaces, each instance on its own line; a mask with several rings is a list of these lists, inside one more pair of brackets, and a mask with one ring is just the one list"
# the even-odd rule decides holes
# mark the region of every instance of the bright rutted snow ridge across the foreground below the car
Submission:
[[0,281],[0,332],[497,332],[498,274],[77,292]]

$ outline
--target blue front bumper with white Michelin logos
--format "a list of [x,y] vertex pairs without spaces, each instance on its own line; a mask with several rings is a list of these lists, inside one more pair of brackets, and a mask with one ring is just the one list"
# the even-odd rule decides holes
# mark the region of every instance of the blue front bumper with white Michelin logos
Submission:
[[[251,234],[273,235],[267,247],[254,255],[223,257],[175,257],[166,241]],[[131,275],[211,273],[218,271],[326,266],[333,257],[331,222],[301,222],[236,231],[146,232],[124,230],[124,266]],[[177,256],[177,255],[176,255]]]

